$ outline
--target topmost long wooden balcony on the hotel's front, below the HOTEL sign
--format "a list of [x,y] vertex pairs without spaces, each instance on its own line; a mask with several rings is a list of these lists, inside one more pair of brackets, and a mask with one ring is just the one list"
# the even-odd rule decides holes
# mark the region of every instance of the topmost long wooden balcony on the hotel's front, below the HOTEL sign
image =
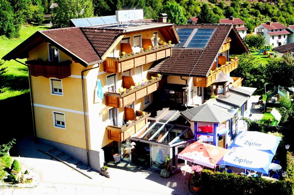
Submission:
[[156,60],[171,56],[171,47],[173,47],[173,45],[174,44],[158,48],[156,50],[142,52],[130,57],[107,57],[103,63],[104,71],[113,73],[124,72],[149,62],[154,62]]

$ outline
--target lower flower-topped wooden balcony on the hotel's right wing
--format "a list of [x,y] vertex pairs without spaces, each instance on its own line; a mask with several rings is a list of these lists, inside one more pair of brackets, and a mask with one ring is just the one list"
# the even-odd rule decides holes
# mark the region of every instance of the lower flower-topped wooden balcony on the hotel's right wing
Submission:
[[[234,58],[229,58],[229,60],[234,59]],[[228,65],[225,65],[225,67],[219,69],[217,72],[214,72],[208,77],[194,77],[194,86],[198,87],[208,87],[209,85],[213,84],[214,81],[216,80],[218,73],[219,72],[224,72],[225,74],[233,71],[238,67],[238,61],[239,59],[235,59],[233,62],[231,62]]]

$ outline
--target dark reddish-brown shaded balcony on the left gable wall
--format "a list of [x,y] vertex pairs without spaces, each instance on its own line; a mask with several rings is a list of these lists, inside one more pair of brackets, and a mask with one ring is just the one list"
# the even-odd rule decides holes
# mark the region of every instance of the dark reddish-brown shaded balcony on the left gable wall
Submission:
[[25,62],[30,65],[31,75],[34,77],[55,77],[64,79],[71,75],[71,60],[63,62],[49,62],[39,60],[29,60]]

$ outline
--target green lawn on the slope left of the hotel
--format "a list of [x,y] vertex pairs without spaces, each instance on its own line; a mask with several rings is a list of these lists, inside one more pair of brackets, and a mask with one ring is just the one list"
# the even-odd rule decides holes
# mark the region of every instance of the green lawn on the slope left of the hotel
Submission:
[[[0,39],[0,59],[37,30],[46,29],[48,27],[45,26],[23,26],[20,30],[19,38]],[[24,62],[25,59],[19,59],[19,61]],[[0,100],[29,92],[27,67],[14,60],[6,61],[5,66],[7,67],[6,73],[4,74],[6,86],[4,93],[0,94]]]

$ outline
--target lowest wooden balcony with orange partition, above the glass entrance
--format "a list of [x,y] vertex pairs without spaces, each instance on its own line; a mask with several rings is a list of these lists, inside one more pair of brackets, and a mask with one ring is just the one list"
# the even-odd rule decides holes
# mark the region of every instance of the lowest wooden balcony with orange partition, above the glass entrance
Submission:
[[[132,114],[128,114],[132,113],[131,110],[133,110],[133,114],[135,114],[133,108],[125,108],[125,118],[131,117]],[[148,123],[148,117],[151,113],[145,113],[145,116],[143,116],[143,111],[137,110],[136,116],[141,116],[142,118],[139,118],[138,120],[131,120],[133,123],[129,125],[125,124],[121,127],[108,125],[106,127],[108,131],[108,139],[122,142],[131,137],[131,135],[137,133]]]

